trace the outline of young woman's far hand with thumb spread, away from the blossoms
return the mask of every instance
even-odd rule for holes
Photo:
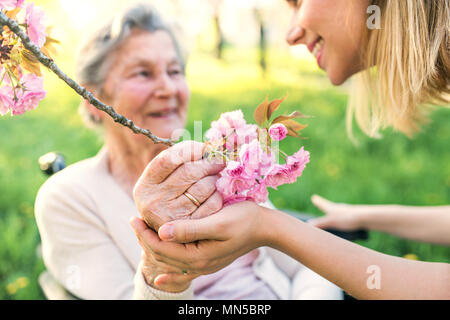
[[[325,213],[325,216],[312,219],[308,223],[321,229],[337,229],[352,231],[361,229],[361,216],[370,210],[371,206],[351,205],[346,203],[335,203],[313,195],[312,203]]]

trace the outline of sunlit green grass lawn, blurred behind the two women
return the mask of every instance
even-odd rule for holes
[[[345,131],[347,95],[332,87],[310,60],[294,61],[271,52],[265,78],[252,51],[230,50],[225,62],[206,53],[191,57],[188,80],[192,89],[188,129],[203,121],[203,130],[221,112],[243,110],[248,121],[269,94],[288,94],[280,112],[299,109],[306,119],[307,140],[283,141],[292,153],[304,145],[311,163],[300,182],[271,191],[280,208],[320,214],[310,202],[317,193],[347,203],[443,205],[450,203],[450,112],[433,114],[432,123],[414,140],[387,131],[381,140],[356,131],[360,146]],[[42,299],[37,277],[44,269],[36,247],[39,234],[33,216],[34,198],[45,177],[37,159],[59,151],[67,162],[93,156],[101,146],[77,114],[79,99],[54,76],[46,78],[48,97],[24,116],[0,118],[0,299]],[[450,262],[450,248],[402,240],[371,232],[360,244],[388,254],[413,253],[423,261]]]

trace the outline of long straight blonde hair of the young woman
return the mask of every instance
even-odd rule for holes
[[[408,136],[427,122],[432,105],[449,104],[450,2],[372,0],[381,29],[365,28],[362,61],[347,109],[363,132],[379,137],[392,126]]]

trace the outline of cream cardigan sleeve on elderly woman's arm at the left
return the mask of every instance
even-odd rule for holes
[[[37,195],[36,222],[44,263],[70,293],[94,300],[192,296],[192,289],[171,294],[148,286],[108,234],[92,196],[82,186],[52,178]]]

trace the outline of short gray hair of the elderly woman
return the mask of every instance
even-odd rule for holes
[[[109,57],[127,39],[133,29],[167,32],[173,41],[184,73],[185,58],[172,28],[162,20],[151,5],[138,4],[126,9],[98,29],[80,47],[76,59],[75,76],[77,81],[84,86],[93,86],[101,90],[107,72],[113,63]],[[95,119],[83,105],[80,106],[79,111],[88,126],[99,127],[100,121]]]

